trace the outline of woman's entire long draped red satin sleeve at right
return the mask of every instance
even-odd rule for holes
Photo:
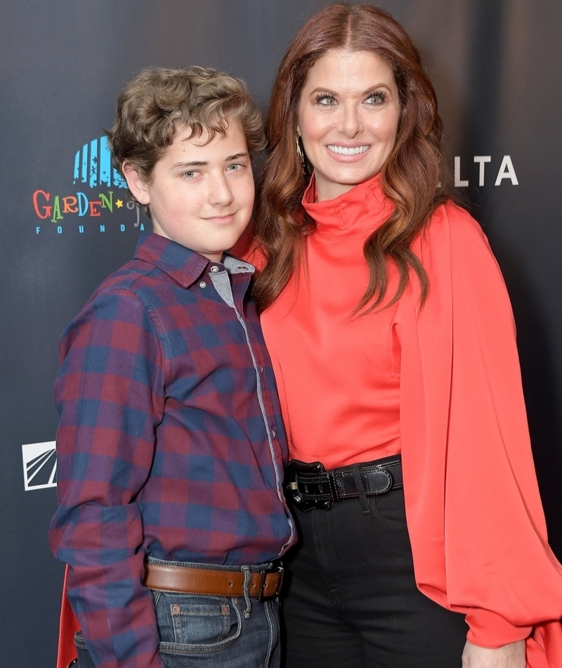
[[[440,207],[414,243],[429,274],[400,300],[400,430],[417,584],[466,613],[469,640],[528,638],[528,666],[562,666],[562,567],[532,461],[515,326],[480,226]],[[529,637],[530,636],[530,637]]]

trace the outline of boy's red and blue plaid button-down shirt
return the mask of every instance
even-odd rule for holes
[[[146,555],[256,564],[294,541],[252,271],[145,234],[61,338],[51,547],[98,666],[162,666]]]

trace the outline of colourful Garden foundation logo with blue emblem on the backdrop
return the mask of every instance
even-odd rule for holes
[[[126,198],[126,183],[112,165],[107,137],[93,139],[77,150],[72,186],[64,193],[48,188],[34,191],[36,234],[104,233],[114,226],[120,232],[145,229],[139,207]]]

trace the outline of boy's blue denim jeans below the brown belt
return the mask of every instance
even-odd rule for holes
[[[171,562],[159,562],[171,563]],[[217,567],[240,571],[240,567]],[[261,570],[250,566],[250,570]],[[279,668],[277,600],[152,591],[166,668]],[[81,634],[78,667],[95,668]]]

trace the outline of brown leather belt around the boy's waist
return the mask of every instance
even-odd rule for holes
[[[249,596],[259,601],[275,598],[281,591],[283,569],[249,573]],[[145,564],[145,586],[149,589],[200,594],[201,596],[244,596],[244,571]]]

